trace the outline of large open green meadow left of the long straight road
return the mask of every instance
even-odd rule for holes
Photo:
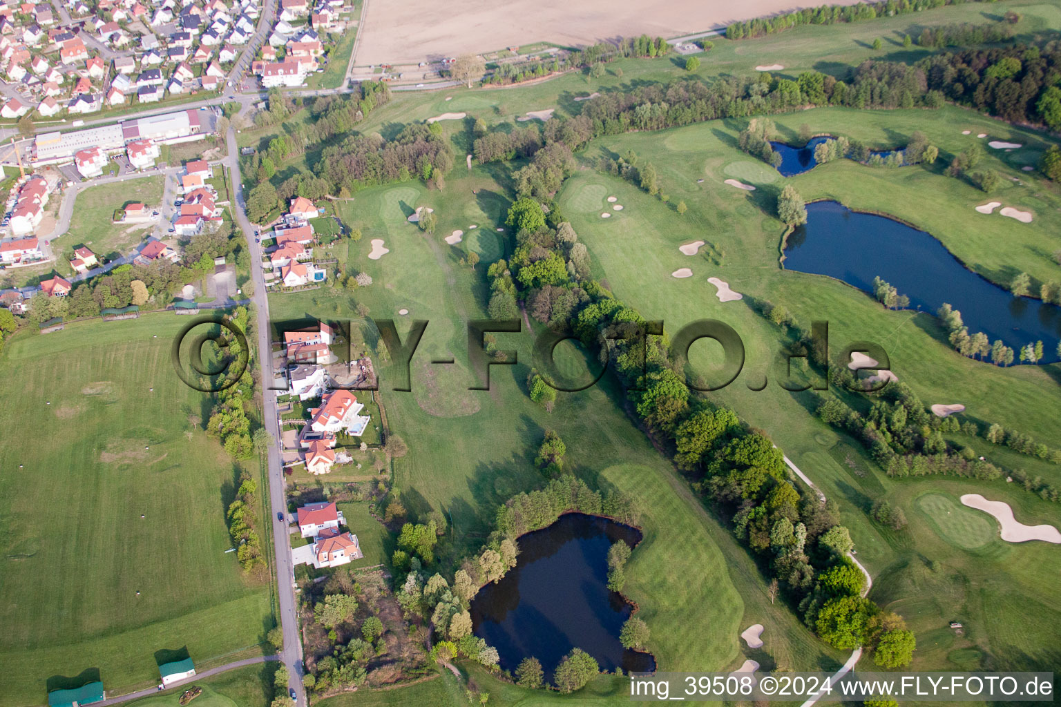
[[[202,430],[209,399],[173,370],[181,319],[74,323],[7,342],[5,704],[38,704],[47,678],[87,668],[109,692],[153,684],[160,649],[187,646],[201,666],[261,652],[271,585],[226,553],[240,470]]]

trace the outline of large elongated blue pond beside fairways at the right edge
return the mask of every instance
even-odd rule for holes
[[[806,205],[807,223],[785,247],[785,269],[828,275],[868,293],[880,276],[910,307],[935,314],[943,302],[961,312],[970,334],[1002,339],[1015,353],[1038,340],[1057,360],[1061,307],[1008,290],[966,268],[939,241],[898,220],[851,211],[836,201]]]

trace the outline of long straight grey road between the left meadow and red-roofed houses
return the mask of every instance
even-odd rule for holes
[[[236,130],[228,128],[226,136],[228,157],[224,163],[231,171],[232,213],[236,223],[243,230],[250,249],[250,272],[255,283],[255,294],[251,301],[257,312],[256,325],[258,330],[258,361],[261,366],[262,382],[273,381],[273,355],[269,344],[268,290],[265,289],[265,277],[261,268],[261,245],[255,243],[256,229],[247,218],[246,201],[243,197],[243,180],[240,177],[240,151],[236,145]],[[264,385],[262,386],[265,387]],[[265,429],[273,437],[274,443],[268,446],[268,493],[269,514],[273,524],[273,549],[276,553],[276,577],[279,585],[277,603],[280,608],[280,625],[283,629],[283,651],[281,658],[288,666],[291,675],[291,687],[295,689],[299,707],[306,707],[306,689],[302,687],[302,641],[298,630],[298,611],[295,601],[295,567],[291,559],[291,541],[286,520],[277,518],[277,513],[288,514],[288,499],[284,492],[283,467],[280,463],[280,426],[276,411],[276,391],[262,390]]]

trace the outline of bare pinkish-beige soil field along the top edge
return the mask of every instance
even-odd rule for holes
[[[621,36],[676,37],[734,20],[796,10],[790,0],[742,3],[648,0],[367,0],[356,66],[416,63],[533,41],[591,45]],[[840,4],[853,4],[839,0]],[[534,21],[526,21],[534,18]]]

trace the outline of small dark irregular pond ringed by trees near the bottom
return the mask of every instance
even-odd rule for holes
[[[503,670],[534,656],[551,679],[573,648],[596,658],[601,670],[656,669],[651,655],[619,642],[632,606],[607,585],[608,548],[616,541],[632,548],[641,532],[581,513],[520,537],[516,567],[471,602],[474,633],[498,649]]]

